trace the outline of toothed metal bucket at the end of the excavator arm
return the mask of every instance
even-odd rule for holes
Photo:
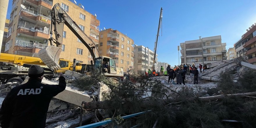
[[[58,64],[60,54],[61,48],[56,46],[47,46],[38,52],[40,59],[52,70],[61,68]]]

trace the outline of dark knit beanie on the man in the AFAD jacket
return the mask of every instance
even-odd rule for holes
[[[32,65],[31,67],[29,67],[29,77],[30,78],[38,78],[38,77],[42,77],[42,75],[44,75],[45,70],[40,67],[39,65]]]

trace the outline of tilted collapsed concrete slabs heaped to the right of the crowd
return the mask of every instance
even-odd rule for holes
[[[232,71],[234,73],[242,73],[249,68],[256,70],[256,66],[248,63],[248,61],[243,57],[221,62],[216,62],[214,64],[212,63],[213,65],[218,65],[199,74],[199,78],[210,81],[218,81],[218,77],[221,72]]]

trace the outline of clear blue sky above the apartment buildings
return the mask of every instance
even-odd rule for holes
[[[74,1],[74,0],[71,0]],[[256,22],[255,0],[76,0],[85,10],[97,14],[100,28],[112,28],[134,40],[134,44],[154,50],[160,8],[163,8],[158,60],[178,64],[177,46],[199,36],[221,35],[226,49]],[[9,0],[7,19],[12,0]]]

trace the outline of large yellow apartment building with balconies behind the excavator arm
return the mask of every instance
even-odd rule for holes
[[[5,53],[38,57],[38,51],[49,44],[51,8],[60,3],[61,8],[97,44],[99,20],[69,0],[13,0]],[[22,6],[23,7],[22,7]],[[88,49],[64,25],[62,52],[60,58],[88,63]]]

